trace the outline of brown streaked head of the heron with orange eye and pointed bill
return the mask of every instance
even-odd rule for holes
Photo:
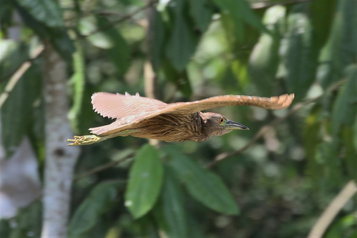
[[[203,119],[203,130],[205,130],[209,136],[221,136],[237,129],[249,130],[248,127],[227,120],[224,116],[218,113],[206,112],[202,113],[201,117]]]

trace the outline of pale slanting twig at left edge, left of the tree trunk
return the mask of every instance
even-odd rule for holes
[[[12,75],[10,78],[9,82],[7,82],[4,91],[0,95],[0,108],[2,105],[4,105],[4,102],[6,101],[7,97],[9,97],[10,92],[14,89],[16,83],[19,81],[19,79],[22,77],[22,75],[25,74],[25,72],[30,68],[32,64],[32,60],[36,59],[39,57],[41,52],[44,50],[44,46],[40,45],[38,46],[33,52],[30,57],[30,59],[26,60],[22,65],[19,67],[19,69],[16,70],[16,72]]]

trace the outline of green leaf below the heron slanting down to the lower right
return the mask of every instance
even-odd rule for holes
[[[170,155],[170,166],[185,183],[192,197],[217,212],[227,215],[239,213],[236,202],[220,177],[180,152],[171,150],[167,153]]]

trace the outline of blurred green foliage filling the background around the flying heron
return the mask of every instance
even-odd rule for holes
[[[356,181],[357,2],[273,3],[160,0],[149,13],[138,0],[2,1],[0,92],[37,45],[52,42],[67,62],[68,117],[78,134],[111,121],[92,111],[92,93],[144,95],[148,60],[165,102],[225,94],[314,99],[211,171],[205,165],[217,155],[242,148],[294,105],[212,110],[251,130],[200,143],[154,148],[129,136],[82,147],[76,174],[138,152],[74,181],[69,236],[303,237]],[[7,157],[28,135],[40,164],[45,159],[44,70],[41,57],[33,60],[1,107]],[[39,236],[40,205],[2,219],[1,237]],[[352,199],[326,237],[355,237],[356,216]]]

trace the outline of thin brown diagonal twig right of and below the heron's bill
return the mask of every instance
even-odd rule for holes
[[[337,90],[345,81],[346,80],[340,80],[340,81],[334,83],[329,88],[327,88],[326,92],[331,92],[331,91]],[[268,132],[272,126],[275,126],[278,123],[284,121],[286,118],[290,117],[291,115],[294,115],[295,113],[300,111],[301,108],[309,105],[310,103],[316,102],[322,96],[323,96],[323,94],[320,96],[317,96],[315,98],[312,98],[310,100],[306,100],[304,102],[296,104],[295,107],[290,112],[288,112],[285,116],[278,117],[275,120],[268,123],[267,125],[260,128],[260,130],[255,134],[255,136],[245,146],[243,146],[242,148],[240,148],[237,151],[233,151],[233,152],[229,152],[229,153],[221,153],[221,154],[217,155],[211,163],[206,165],[206,167],[212,168],[219,161],[222,161],[223,159],[226,159],[226,158],[234,156],[234,155],[238,155],[238,154],[242,153],[243,151],[247,150],[247,148],[254,145],[261,137],[263,137],[263,135],[265,135],[265,133]]]

